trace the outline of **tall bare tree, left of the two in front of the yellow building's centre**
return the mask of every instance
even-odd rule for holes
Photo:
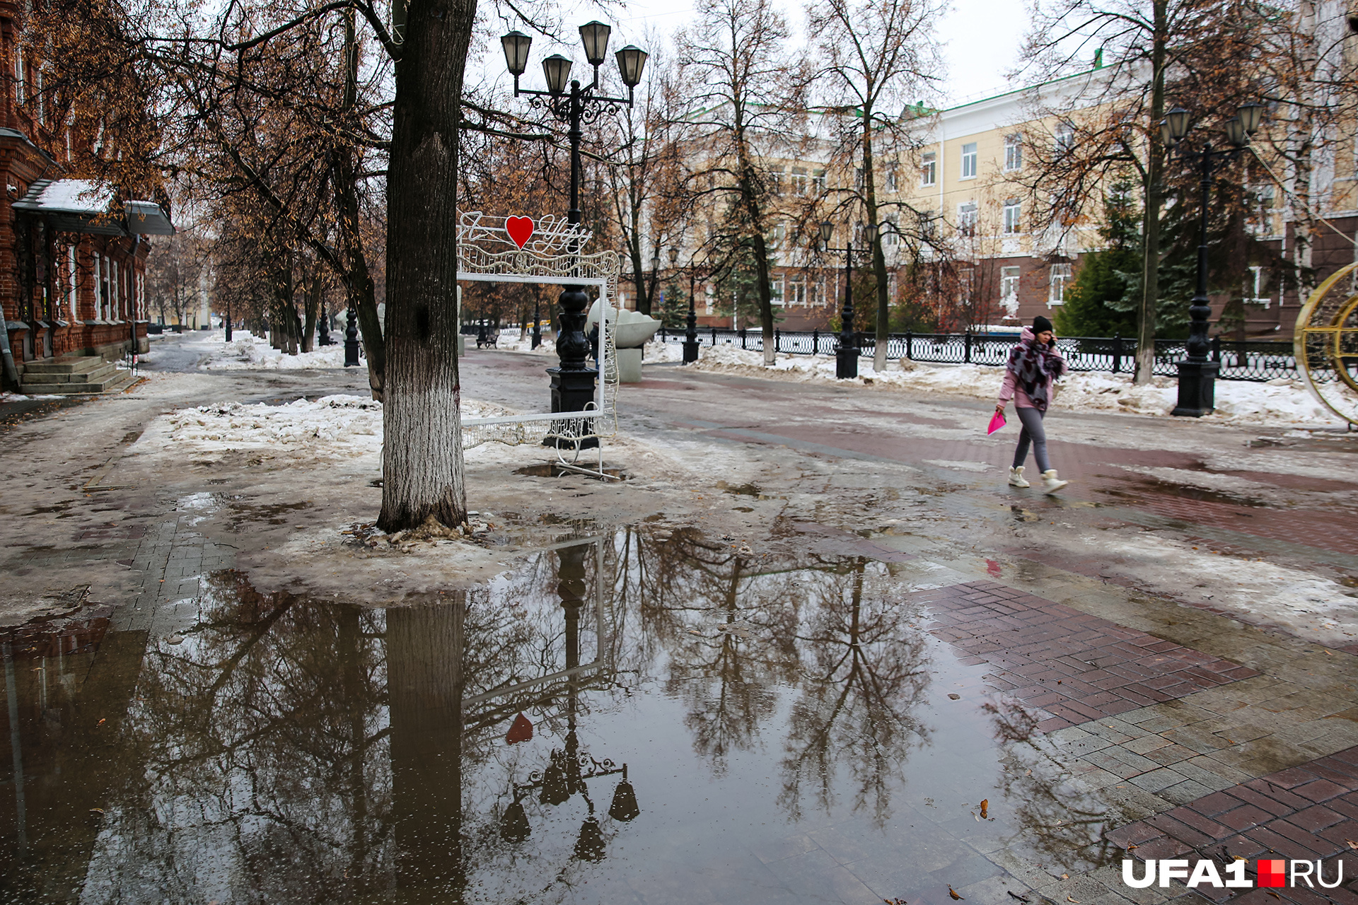
[[[687,194],[724,217],[706,237],[721,256],[752,258],[765,362],[774,361],[767,160],[801,144],[807,73],[789,53],[788,23],[770,0],[701,0],[679,34]]]

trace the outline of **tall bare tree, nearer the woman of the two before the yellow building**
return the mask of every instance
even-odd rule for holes
[[[839,125],[835,163],[847,172],[857,170],[853,189],[838,198],[838,210],[850,223],[864,217],[876,277],[877,343],[873,366],[887,366],[889,304],[887,258],[877,237],[883,208],[907,208],[902,202],[879,199],[877,153],[910,148],[907,123],[889,110],[900,110],[910,95],[918,96],[937,77],[940,60],[932,38],[932,23],[941,11],[937,0],[830,0],[811,8],[809,30],[824,57],[822,81],[830,95],[830,110]],[[915,123],[909,123],[915,125]],[[918,212],[892,217],[892,227],[909,229]]]

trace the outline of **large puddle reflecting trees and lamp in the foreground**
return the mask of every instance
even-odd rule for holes
[[[642,528],[435,605],[219,573],[175,635],[11,634],[4,901],[951,905],[1100,860],[899,569]]]

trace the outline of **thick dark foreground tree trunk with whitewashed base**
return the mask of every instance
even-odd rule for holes
[[[397,62],[378,517],[378,526],[388,532],[414,528],[429,517],[459,525],[467,514],[452,224],[458,221],[458,110],[475,15],[475,0],[413,0]]]

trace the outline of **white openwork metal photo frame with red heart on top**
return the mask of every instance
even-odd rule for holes
[[[462,421],[463,449],[483,442],[508,445],[540,444],[547,438],[583,441],[585,438],[614,437],[618,433],[618,364],[612,300],[618,294],[622,261],[614,251],[587,254],[581,251],[593,236],[589,229],[572,225],[554,216],[532,223],[532,235],[520,246],[511,239],[507,228],[509,217],[490,217],[479,210],[464,212],[458,218],[458,280],[474,282],[536,282],[576,286],[598,286],[600,312],[599,331],[599,385],[593,408],[579,415],[562,412],[509,415],[504,418],[464,418]],[[579,455],[580,444],[558,444],[557,456],[562,467],[572,471],[603,474],[603,448],[599,452],[599,471],[568,463],[562,453]]]

